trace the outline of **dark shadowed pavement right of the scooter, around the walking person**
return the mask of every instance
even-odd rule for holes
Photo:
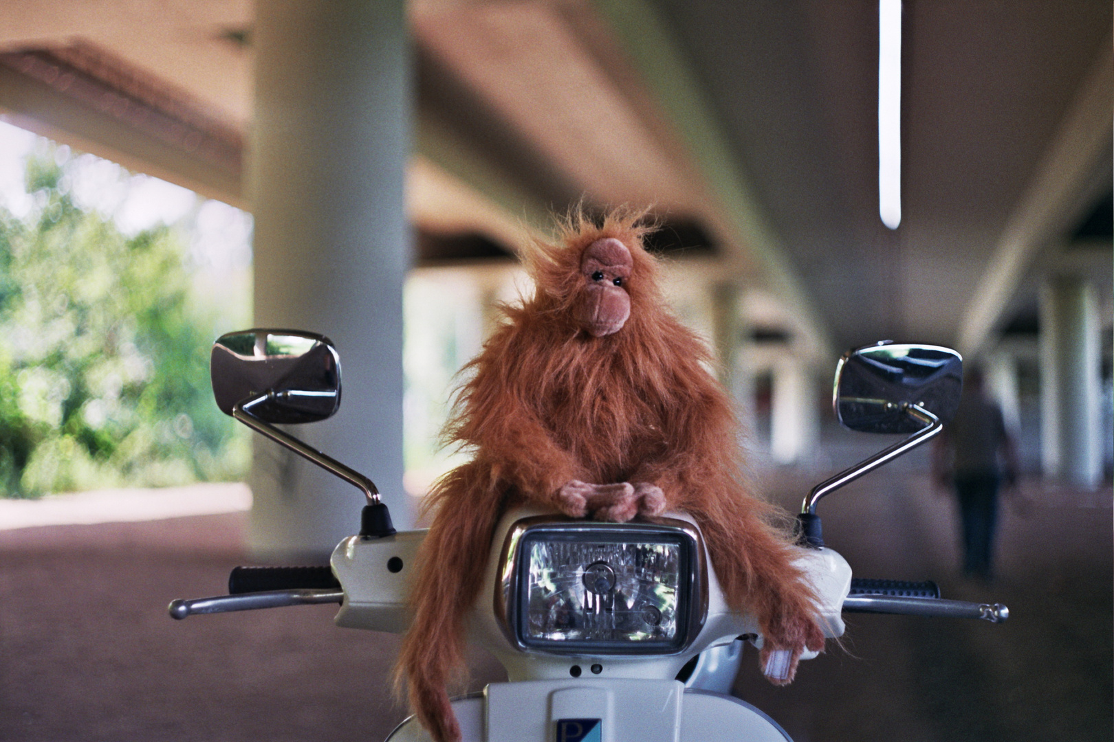
[[[1025,493],[1027,507],[1005,509],[990,585],[957,576],[952,504],[924,477],[879,472],[822,501],[828,544],[859,576],[931,578],[944,597],[1005,603],[1010,619],[857,614],[843,649],[793,685],[773,689],[744,666],[736,694],[797,742],[1114,738],[1110,489]]]

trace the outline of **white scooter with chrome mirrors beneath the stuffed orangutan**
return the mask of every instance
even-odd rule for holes
[[[423,531],[397,533],[365,476],[274,427],[324,419],[340,405],[340,358],[328,338],[252,329],[213,348],[221,408],[360,487],[360,533],[330,567],[236,567],[229,595],[170,603],[199,613],[339,603],[335,623],[404,632],[408,592]],[[1005,621],[1004,605],[939,598],[932,583],[853,580],[823,545],[821,497],[940,432],[958,404],[959,354],[880,343],[849,352],[836,372],[836,412],[849,428],[911,437],[817,485],[804,499],[799,564],[814,587],[825,635],[842,613],[902,613]],[[508,682],[453,701],[465,742],[784,742],[768,715],[729,695],[744,642],[761,647],[750,615],[727,609],[692,518],[576,521],[532,509],[507,513],[496,531],[470,640],[507,669]],[[814,656],[814,655],[813,655]],[[809,659],[805,655],[804,659]],[[408,719],[390,742],[429,740]]]

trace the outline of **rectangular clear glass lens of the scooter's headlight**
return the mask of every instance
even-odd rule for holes
[[[692,558],[691,541],[676,532],[527,532],[518,639],[561,652],[678,650],[687,640]]]

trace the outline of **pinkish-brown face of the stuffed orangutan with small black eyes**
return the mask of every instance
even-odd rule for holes
[[[593,337],[619,332],[631,316],[626,283],[633,263],[631,250],[614,237],[597,239],[585,248],[580,275],[588,286],[576,318]]]

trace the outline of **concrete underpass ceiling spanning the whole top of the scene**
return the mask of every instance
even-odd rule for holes
[[[698,83],[691,111],[647,81],[638,55],[661,42],[636,48],[616,26],[624,8],[656,16],[680,50]],[[0,9],[0,51],[82,39],[246,130],[252,13],[242,0],[27,0]],[[873,1],[414,0],[411,19],[419,226],[459,224],[506,244],[517,222],[582,195],[595,206],[653,201],[716,243],[721,278],[781,295],[791,334],[843,347],[957,342],[1062,120],[1096,65],[1110,63],[1112,7],[906,2],[896,231],[877,214]],[[688,112],[714,119],[761,228],[740,228],[740,201],[710,185],[722,174],[698,156],[707,142],[686,138]],[[1075,212],[1059,215],[1058,233],[995,307],[996,327],[1032,305],[1034,270],[1057,265],[1073,219],[1110,198],[1110,157],[1071,185],[1063,210]],[[1108,238],[1088,249],[1110,263]],[[1097,278],[1110,306],[1108,273]]]

